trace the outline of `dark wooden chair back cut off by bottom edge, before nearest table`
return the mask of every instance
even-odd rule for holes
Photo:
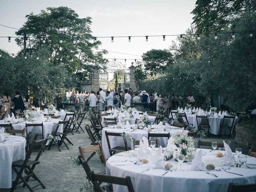
[[[121,177],[115,177],[115,176],[95,174],[93,171],[90,171],[89,175],[92,180],[92,184],[94,186],[95,192],[112,192],[113,191],[113,187],[111,185],[101,186],[100,184],[102,182],[127,186],[128,192],[134,192],[134,188],[132,186],[132,180],[130,176],[121,178]]]

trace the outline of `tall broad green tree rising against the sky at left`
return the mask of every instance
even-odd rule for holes
[[[93,42],[90,17],[78,18],[78,14],[68,7],[48,7],[40,14],[26,15],[27,21],[18,36],[27,36],[28,44],[23,54],[32,56],[44,47],[49,50],[50,61],[64,66],[69,72],[86,76],[92,72],[92,65],[104,66],[103,54],[106,50],[97,51],[100,41]],[[80,42],[78,42],[79,40]],[[62,41],[62,42],[60,42]],[[23,46],[24,38],[16,38]],[[45,43],[44,43],[45,42]]]

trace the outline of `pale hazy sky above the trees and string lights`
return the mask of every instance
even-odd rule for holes
[[[80,18],[92,17],[93,36],[150,36],[182,34],[192,23],[190,14],[196,0],[9,0],[1,1],[0,24],[14,28],[22,27],[26,14],[38,14],[46,7],[67,6],[73,9]],[[0,26],[0,36],[15,36],[16,30]],[[113,52],[142,55],[151,49],[168,49],[176,36],[162,37],[110,38],[99,39],[101,49]],[[0,38],[0,48],[9,53],[17,53],[20,48],[14,39]],[[141,59],[109,52],[104,58]],[[124,62],[124,60],[120,60]],[[127,61],[127,66],[134,62]]]

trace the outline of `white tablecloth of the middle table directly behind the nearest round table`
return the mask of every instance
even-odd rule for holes
[[[182,130],[178,127],[173,127],[171,126],[172,128],[177,128],[176,130],[171,130],[170,131],[170,134],[176,134],[177,132],[181,132]],[[102,148],[103,148],[103,151],[104,151],[104,154],[106,156],[106,158],[108,159],[110,157],[110,153],[109,153],[109,149],[108,149],[108,143],[107,143],[107,140],[106,140],[106,134],[105,134],[105,131],[108,131],[108,132],[114,132],[114,133],[120,133],[122,134],[123,132],[125,132],[125,134],[127,136],[130,136],[132,135],[132,137],[135,139],[135,140],[142,140],[143,136],[148,138],[148,131],[144,131],[144,130],[137,130],[137,131],[128,131],[128,130],[125,130],[125,129],[114,129],[113,127],[108,127],[108,128],[103,128],[102,129]],[[152,133],[156,132],[156,130],[152,130]],[[157,133],[168,133],[167,131],[163,131],[163,132],[157,132]],[[115,136],[109,136],[109,142],[110,142],[110,146],[113,148],[115,146],[124,146],[124,139],[122,137],[115,137]],[[153,138],[154,139],[154,138]],[[167,138],[158,138],[158,141],[159,141],[159,144],[162,146],[162,147],[166,147],[167,146]],[[128,147],[131,146],[131,143],[127,140],[127,143],[128,143]]]

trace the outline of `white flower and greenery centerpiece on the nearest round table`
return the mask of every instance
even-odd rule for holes
[[[186,156],[194,148],[194,138],[186,133],[175,134],[172,136],[174,144],[180,148],[181,153]]]

